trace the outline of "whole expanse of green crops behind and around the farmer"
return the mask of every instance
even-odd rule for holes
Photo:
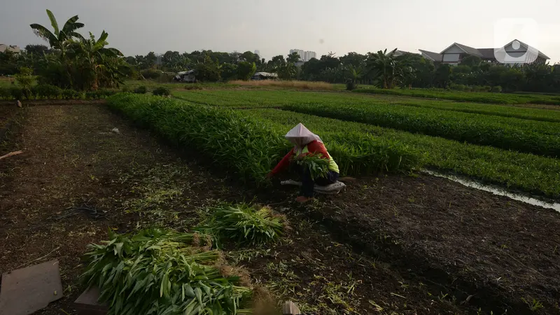
[[[394,103],[399,99],[388,102],[346,92],[196,90],[176,91],[174,95],[181,100],[121,94],[109,102],[162,137],[202,147],[208,158],[223,162],[218,162],[223,168],[258,184],[265,183],[264,174],[290,148],[283,134],[293,125],[304,123],[321,135],[343,174],[407,172],[428,167],[508,188],[560,196],[560,162],[543,156],[547,152],[542,150],[546,141],[554,147],[554,139],[559,137],[558,123],[433,109],[428,104],[401,105]],[[503,111],[520,110],[501,107]],[[528,116],[556,113],[542,109],[519,112]],[[389,126],[375,123],[373,118],[378,116]],[[407,120],[403,123],[404,118]],[[430,124],[435,127],[429,129]],[[419,127],[423,125],[428,127]],[[411,126],[416,127],[414,133],[407,132]],[[436,128],[441,134],[434,132]],[[487,139],[493,146],[455,141],[455,134]],[[517,147],[531,143],[531,150],[541,155],[500,148],[507,146],[507,141]],[[224,150],[238,158],[221,161],[216,152]]]

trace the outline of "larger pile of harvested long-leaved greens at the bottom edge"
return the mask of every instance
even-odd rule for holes
[[[244,314],[239,305],[251,289],[235,286],[213,264],[217,251],[189,246],[197,235],[143,230],[116,235],[103,245],[89,245],[89,265],[82,279],[97,285],[99,302],[110,315]]]

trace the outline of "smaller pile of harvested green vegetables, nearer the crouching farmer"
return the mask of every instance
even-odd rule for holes
[[[235,239],[241,244],[264,244],[275,241],[285,229],[286,218],[268,207],[248,204],[223,204],[200,230],[216,235],[216,239]]]

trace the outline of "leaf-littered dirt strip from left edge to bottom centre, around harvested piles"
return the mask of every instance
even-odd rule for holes
[[[0,163],[0,272],[53,258],[60,261],[65,297],[38,314],[74,314],[83,286],[85,246],[152,225],[188,230],[206,207],[242,202],[252,193],[230,186],[147,132],[130,127],[102,105],[30,107],[10,149],[25,151]],[[113,132],[118,128],[118,132]],[[0,152],[3,153],[3,152]],[[288,193],[279,194],[278,198]],[[332,239],[299,209],[279,244],[230,248],[253,283],[318,314],[465,314],[438,286],[402,273]]]

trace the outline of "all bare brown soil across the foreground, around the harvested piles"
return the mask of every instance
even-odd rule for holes
[[[79,257],[109,228],[186,230],[218,200],[255,196],[287,214],[293,230],[280,244],[232,249],[228,258],[307,310],[533,314],[524,297],[544,304],[538,314],[559,313],[553,211],[423,175],[358,179],[299,207],[292,188],[247,190],[103,106],[27,111],[13,141],[25,153],[0,163],[0,272],[60,260],[66,297],[38,314],[72,314],[83,289]],[[103,217],[69,208],[83,204]]]

